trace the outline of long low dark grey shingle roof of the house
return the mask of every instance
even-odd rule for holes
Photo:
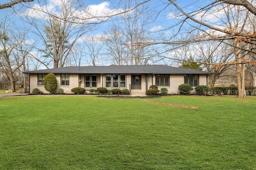
[[[69,66],[62,68],[50,68],[23,72],[26,74],[48,74],[48,73],[79,73],[79,74],[215,74],[200,70],[189,70],[165,65],[110,65],[110,66]]]

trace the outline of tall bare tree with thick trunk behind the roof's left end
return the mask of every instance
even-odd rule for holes
[[[47,4],[42,9],[36,8],[39,16],[28,13],[27,22],[32,25],[31,30],[40,38],[45,49],[37,47],[44,57],[53,61],[54,68],[67,65],[69,54],[76,43],[85,33],[95,27],[88,22],[80,23],[77,16],[82,2],[77,0],[60,0],[58,6],[52,8]]]

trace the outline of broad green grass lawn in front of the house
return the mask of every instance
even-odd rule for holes
[[[255,103],[254,96],[0,98],[0,169],[254,170]]]

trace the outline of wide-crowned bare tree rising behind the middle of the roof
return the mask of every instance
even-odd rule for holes
[[[125,7],[125,11],[128,11],[127,8]],[[141,5],[113,19],[112,27],[106,31],[105,41],[109,55],[113,56],[113,63],[148,63],[152,57],[152,49],[143,44],[154,41],[149,31],[149,23],[153,22],[152,14],[148,6]]]

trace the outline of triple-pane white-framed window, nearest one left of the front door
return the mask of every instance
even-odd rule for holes
[[[126,88],[126,75],[106,74],[106,88]]]

